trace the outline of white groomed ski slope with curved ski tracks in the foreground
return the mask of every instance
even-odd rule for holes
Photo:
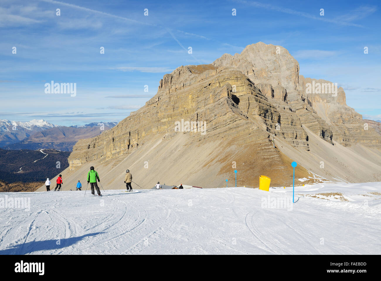
[[[0,254],[379,254],[381,182],[292,189],[0,193]]]

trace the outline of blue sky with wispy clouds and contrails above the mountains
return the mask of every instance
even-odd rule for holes
[[[304,0],[2,0],[0,118],[44,119],[69,126],[120,121],[156,94],[165,73],[181,65],[211,63],[224,53],[241,52],[262,41],[287,48],[305,77],[337,82],[346,92],[347,105],[364,119],[378,120],[379,5]],[[324,16],[319,15],[321,8]],[[76,83],[77,95],[45,94],[45,83],[52,80]]]

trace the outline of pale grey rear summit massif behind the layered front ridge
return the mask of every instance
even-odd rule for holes
[[[346,105],[343,88],[299,76],[298,61],[281,46],[262,42],[248,45],[241,54],[224,54],[213,65],[240,70],[266,97],[285,101],[307,128],[330,143],[360,142],[379,147],[374,130],[361,130],[362,116]]]

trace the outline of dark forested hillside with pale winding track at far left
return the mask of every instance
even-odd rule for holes
[[[45,181],[69,166],[69,155],[55,149],[0,149],[0,179],[8,183]]]

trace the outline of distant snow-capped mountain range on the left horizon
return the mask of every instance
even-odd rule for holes
[[[59,126],[45,120],[18,122],[0,120],[0,147],[6,150],[57,149],[72,151],[79,139],[95,137],[116,122],[93,122],[82,126]]]

